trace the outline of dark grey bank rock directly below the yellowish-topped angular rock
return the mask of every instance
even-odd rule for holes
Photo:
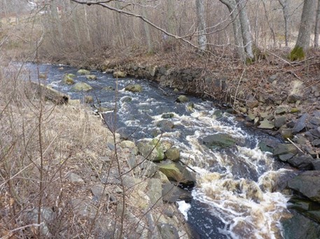
[[[167,182],[162,185],[162,200],[165,203],[175,203],[176,201],[190,201],[192,198],[190,191],[183,190],[174,184]]]

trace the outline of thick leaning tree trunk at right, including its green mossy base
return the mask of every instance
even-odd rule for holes
[[[310,36],[312,34],[312,25],[316,9],[316,0],[305,0],[302,8],[299,34],[295,48],[291,51],[290,59],[304,59],[305,52],[309,49]]]

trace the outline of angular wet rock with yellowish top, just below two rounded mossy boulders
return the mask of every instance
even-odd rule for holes
[[[193,186],[195,184],[193,175],[191,175],[186,167],[181,166],[181,164],[166,160],[157,165],[159,166],[159,171],[164,173],[169,180],[174,180],[184,185]]]

